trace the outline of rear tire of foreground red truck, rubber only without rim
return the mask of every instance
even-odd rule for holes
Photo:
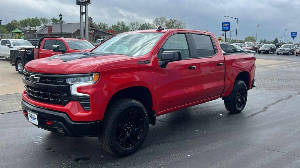
[[[244,89],[245,89],[245,100],[244,100],[243,106],[239,108],[236,103],[236,99],[237,99],[238,90],[241,87],[244,87]],[[247,95],[248,95],[247,94],[247,86],[244,83],[244,81],[236,80],[230,95],[228,97],[226,97],[226,99],[224,100],[226,110],[231,113],[240,113],[241,111],[243,111],[243,109],[245,108],[246,103],[247,103]]]

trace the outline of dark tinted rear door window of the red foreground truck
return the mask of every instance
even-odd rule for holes
[[[195,57],[209,57],[216,54],[210,36],[202,34],[192,34],[192,36],[197,49],[197,55]]]

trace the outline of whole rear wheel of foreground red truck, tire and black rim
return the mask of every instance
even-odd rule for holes
[[[243,111],[247,103],[247,95],[247,86],[244,81],[236,80],[230,95],[224,100],[226,110],[232,113]]]

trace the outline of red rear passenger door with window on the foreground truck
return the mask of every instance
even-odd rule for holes
[[[221,95],[225,86],[225,61],[222,52],[217,51],[217,41],[209,33],[190,32],[189,35],[197,60],[198,100]]]

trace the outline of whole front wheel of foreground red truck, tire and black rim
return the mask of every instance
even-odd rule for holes
[[[108,107],[98,139],[107,152],[127,156],[142,146],[148,129],[149,117],[143,104],[133,99],[118,99]]]

